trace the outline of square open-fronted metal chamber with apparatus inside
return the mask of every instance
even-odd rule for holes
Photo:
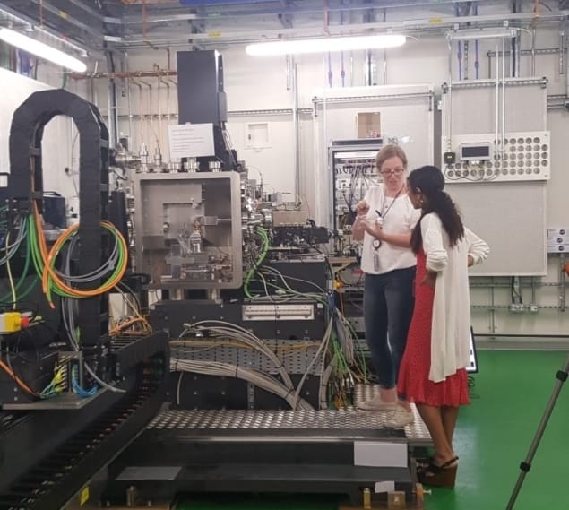
[[[136,174],[136,266],[153,289],[237,289],[243,282],[237,172]]]

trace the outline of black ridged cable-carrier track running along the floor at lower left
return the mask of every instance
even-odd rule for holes
[[[0,466],[0,507],[59,510],[156,415],[168,376],[166,333],[114,341],[111,349],[127,393],[105,392],[66,411],[73,419],[65,425],[62,411],[0,415],[0,452],[10,459]]]

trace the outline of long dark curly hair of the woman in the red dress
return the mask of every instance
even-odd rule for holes
[[[417,254],[421,246],[421,220],[429,212],[436,212],[443,223],[444,230],[448,234],[451,246],[456,245],[464,236],[464,225],[462,224],[461,214],[453,203],[453,199],[443,191],[443,172],[436,167],[427,165],[413,170],[407,182],[413,193],[420,191],[427,199],[422,206],[422,214],[417,222],[417,226],[411,233],[411,249],[413,253]]]

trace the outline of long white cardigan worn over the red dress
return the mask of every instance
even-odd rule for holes
[[[464,237],[450,246],[440,218],[430,212],[421,220],[423,250],[427,270],[436,275],[431,331],[429,379],[444,381],[470,363],[470,291],[468,255],[482,263],[489,247],[474,232],[464,229]]]

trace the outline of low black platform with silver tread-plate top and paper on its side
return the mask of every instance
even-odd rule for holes
[[[377,393],[358,386],[356,406]],[[346,494],[389,483],[414,501],[407,462],[431,444],[415,410],[405,429],[385,428],[389,413],[356,408],[320,411],[161,411],[108,467],[103,500],[123,503],[134,487],[144,500],[181,492],[312,492]]]

